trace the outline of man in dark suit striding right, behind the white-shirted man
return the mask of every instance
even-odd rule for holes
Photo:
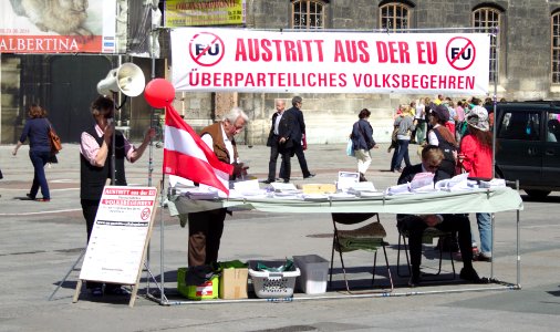
[[[303,121],[301,105],[302,98],[300,96],[294,96],[292,98],[292,107],[286,111],[286,113],[291,114],[291,117],[293,118],[293,131],[290,137],[293,139],[292,156],[295,155],[298,157],[303,178],[311,178],[315,175],[309,172],[308,162],[305,160],[305,155],[303,154],[303,151],[307,148],[307,143],[304,145],[301,143],[302,141],[305,141],[305,122]],[[284,173],[283,168],[280,167],[280,177],[286,181],[286,178],[289,178],[290,174]]]

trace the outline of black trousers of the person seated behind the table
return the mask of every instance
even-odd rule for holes
[[[470,239],[470,224],[466,215],[443,215],[444,221],[434,226],[442,231],[457,231],[459,250],[463,257],[463,266],[473,267],[473,249]],[[413,270],[422,263],[422,236],[428,228],[426,222],[414,215],[400,217],[397,228],[401,232],[408,231],[408,250],[411,252],[411,266]]]

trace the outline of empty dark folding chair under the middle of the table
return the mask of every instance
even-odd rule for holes
[[[338,225],[356,225],[366,221],[370,218],[375,217],[375,221],[365,224],[355,229],[339,229]],[[391,283],[391,291],[393,291],[393,278],[391,276],[391,269],[388,266],[387,251],[385,250],[385,241],[387,234],[380,222],[378,214],[332,214],[332,225],[334,228],[332,238],[332,250],[331,250],[331,270],[329,287],[332,284],[332,272],[334,266],[334,251],[340,255],[340,261],[342,264],[342,272],[344,274],[344,282],[346,284],[346,291],[350,291],[349,280],[346,276],[346,268],[344,266],[343,252],[354,250],[366,250],[373,251],[373,270],[372,270],[372,286],[375,282],[375,268],[377,262],[377,249],[383,248],[385,256],[385,264],[387,267],[387,278]]]

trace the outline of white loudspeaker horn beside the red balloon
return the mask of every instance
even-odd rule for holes
[[[137,96],[144,91],[146,79],[142,69],[132,62],[126,62],[111,70],[107,76],[97,83],[97,92],[102,95],[121,92],[127,96]]]

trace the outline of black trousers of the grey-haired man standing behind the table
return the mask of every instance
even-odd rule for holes
[[[188,266],[218,261],[226,209],[188,214]]]

